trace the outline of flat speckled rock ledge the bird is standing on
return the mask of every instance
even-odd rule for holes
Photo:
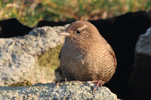
[[[2,100],[119,100],[107,87],[98,87],[92,93],[92,87],[87,83],[68,82],[56,84],[37,84],[30,87],[0,87]]]

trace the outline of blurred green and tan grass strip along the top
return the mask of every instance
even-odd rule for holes
[[[96,20],[151,10],[151,0],[1,0],[0,20],[17,18],[28,26],[40,20]]]

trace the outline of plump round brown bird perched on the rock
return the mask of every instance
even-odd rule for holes
[[[117,65],[115,53],[93,24],[76,21],[60,35],[66,36],[59,58],[67,80],[92,81],[102,86],[112,78]]]

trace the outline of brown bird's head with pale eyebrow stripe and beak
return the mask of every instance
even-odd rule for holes
[[[71,23],[65,32],[60,33],[61,36],[66,36],[66,39],[72,41],[85,41],[92,39],[94,35],[100,35],[97,28],[87,21],[76,21]]]

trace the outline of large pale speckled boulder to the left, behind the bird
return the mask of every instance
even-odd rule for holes
[[[0,85],[12,86],[23,81],[31,84],[54,81],[55,70],[52,66],[42,65],[45,60],[53,59],[42,59],[41,62],[39,59],[64,43],[64,37],[58,34],[66,27],[41,27],[25,36],[0,38]]]

